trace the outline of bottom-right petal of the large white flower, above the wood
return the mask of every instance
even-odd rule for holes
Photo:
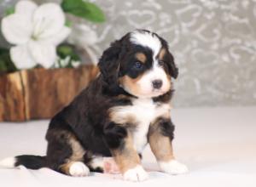
[[[37,64],[42,65],[44,68],[54,65],[57,54],[53,44],[31,41],[29,42],[29,49],[32,58],[35,59]]]

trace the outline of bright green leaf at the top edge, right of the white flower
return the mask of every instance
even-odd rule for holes
[[[86,20],[97,23],[105,21],[102,9],[94,3],[84,2],[83,0],[63,0],[61,8],[68,14],[73,14]]]

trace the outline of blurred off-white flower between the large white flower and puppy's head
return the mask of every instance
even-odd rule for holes
[[[87,54],[90,55],[92,62],[97,63],[96,54],[90,48],[94,47],[96,42],[98,42],[96,31],[93,31],[89,26],[84,24],[77,24],[73,26],[72,32],[67,40],[79,48],[84,48]]]

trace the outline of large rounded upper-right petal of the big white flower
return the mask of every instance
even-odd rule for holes
[[[33,36],[38,39],[54,37],[65,24],[65,15],[55,3],[45,3],[33,14]]]

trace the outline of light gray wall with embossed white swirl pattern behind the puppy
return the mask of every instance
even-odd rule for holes
[[[166,38],[180,70],[174,105],[256,105],[255,0],[93,2],[108,18],[102,25],[90,24],[99,36],[98,55],[134,28]]]

